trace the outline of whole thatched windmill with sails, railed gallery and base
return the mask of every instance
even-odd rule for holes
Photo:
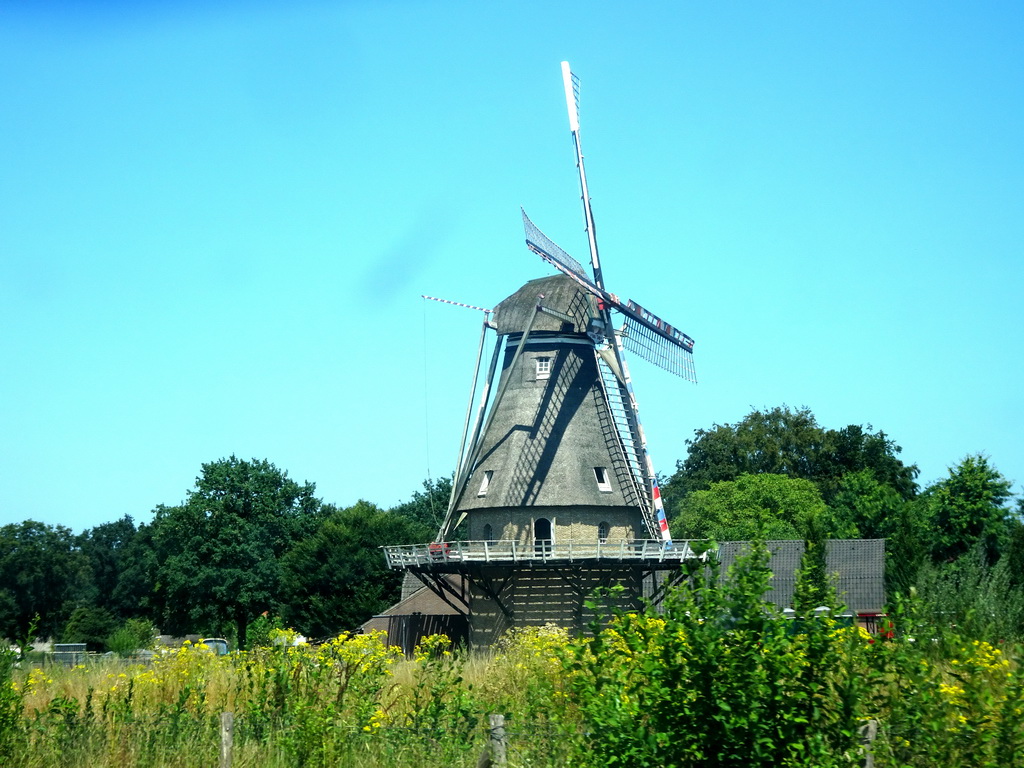
[[[580,144],[579,81],[562,62],[591,273],[526,216],[527,248],[557,274],[484,310],[474,389],[447,513],[434,542],[387,547],[468,616],[485,645],[511,626],[582,631],[597,587],[620,607],[656,599],[657,571],[693,554],[673,543],[626,351],[694,381],[693,340],[604,284]],[[493,315],[493,316],[492,316]],[[488,331],[497,341],[477,396]],[[475,404],[475,408],[474,408]],[[474,416],[475,411],[475,416]]]

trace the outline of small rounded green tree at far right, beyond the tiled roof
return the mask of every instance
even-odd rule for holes
[[[932,558],[951,561],[981,547],[994,563],[1009,542],[1012,513],[1010,481],[984,456],[969,456],[930,489]]]

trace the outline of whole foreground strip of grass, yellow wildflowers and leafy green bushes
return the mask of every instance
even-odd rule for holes
[[[592,637],[510,634],[468,654],[427,638],[412,658],[379,635],[152,664],[0,662],[0,764],[475,766],[507,718],[510,766],[851,766],[878,724],[877,766],[1024,765],[1021,649],[936,628],[912,603],[893,637],[823,616],[779,618],[758,562],[680,592],[663,613]]]

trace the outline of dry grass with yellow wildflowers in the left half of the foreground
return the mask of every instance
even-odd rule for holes
[[[147,665],[14,668],[0,762],[208,767],[229,712],[233,766],[473,766],[487,716],[527,712],[530,686],[554,677],[553,648],[565,642],[543,630],[467,655],[431,637],[406,658],[379,635],[355,635],[227,656],[185,645]],[[542,726],[513,737],[530,752],[554,735]]]

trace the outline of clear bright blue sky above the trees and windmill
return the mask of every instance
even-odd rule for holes
[[[168,4],[171,5],[171,4]],[[347,506],[454,469],[480,316],[581,260],[696,339],[655,466],[807,406],[1024,480],[1017,3],[0,6],[0,523],[268,459]]]

